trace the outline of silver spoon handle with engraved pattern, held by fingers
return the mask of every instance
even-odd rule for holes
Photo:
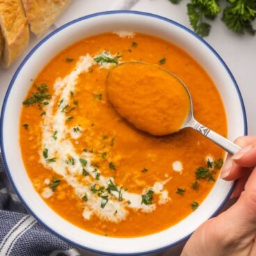
[[[230,154],[235,154],[237,151],[241,150],[241,147],[232,143],[227,138],[217,134],[215,131],[211,131],[205,125],[200,124],[200,122],[196,121],[191,126],[195,131],[198,131],[200,134],[204,135],[205,137],[209,138],[211,141],[219,145],[223,148],[223,150],[227,151]]]

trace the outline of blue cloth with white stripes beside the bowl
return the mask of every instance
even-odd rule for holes
[[[0,256],[47,255],[80,253],[29,215],[8,181],[0,154]]]

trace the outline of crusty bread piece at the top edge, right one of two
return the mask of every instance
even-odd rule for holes
[[[22,0],[31,32],[42,35],[72,0]]]

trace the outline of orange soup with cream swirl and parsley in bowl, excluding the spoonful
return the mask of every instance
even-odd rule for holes
[[[110,237],[145,236],[182,221],[211,191],[224,157],[192,129],[152,136],[123,119],[108,100],[106,76],[128,61],[173,72],[191,92],[195,118],[227,135],[213,81],[170,42],[140,33],[104,33],[54,57],[23,102],[24,165],[51,209],[88,232]]]

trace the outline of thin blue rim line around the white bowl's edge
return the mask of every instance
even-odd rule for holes
[[[175,21],[173,21],[172,19],[168,19],[166,17],[162,17],[159,15],[154,15],[152,13],[144,13],[144,12],[139,12],[139,11],[134,11],[134,10],[112,10],[112,11],[106,11],[106,12],[101,12],[101,13],[93,13],[91,15],[86,15],[83,17],[80,17],[78,19],[74,19],[71,22],[67,22],[66,24],[64,24],[63,26],[60,26],[58,29],[56,29],[55,31],[49,33],[49,35],[47,35],[45,38],[43,38],[40,42],[38,42],[37,45],[35,45],[35,47],[33,47],[33,49],[29,52],[29,54],[24,58],[24,60],[22,61],[22,63],[19,65],[17,71],[15,72],[13,79],[10,81],[10,85],[8,86],[8,90],[6,92],[6,95],[4,97],[3,100],[3,106],[2,106],[2,110],[1,110],[1,119],[0,119],[0,132],[1,132],[1,141],[0,141],[0,146],[1,146],[1,154],[3,157],[3,163],[4,166],[6,168],[6,173],[8,175],[8,178],[10,179],[10,183],[13,185],[13,188],[15,189],[15,192],[17,193],[17,195],[19,196],[19,199],[22,201],[22,203],[24,204],[24,206],[26,207],[26,209],[28,209],[28,211],[34,216],[34,218],[41,223],[43,226],[47,227],[48,230],[50,230],[53,234],[55,234],[57,237],[60,237],[61,239],[67,241],[68,243],[72,243],[74,246],[78,246],[79,248],[82,248],[84,250],[89,250],[92,251],[94,253],[99,253],[99,254],[105,254],[105,255],[147,255],[150,253],[157,253],[161,250],[166,250],[168,248],[177,246],[179,243],[182,243],[183,241],[186,241],[186,239],[189,239],[189,237],[191,237],[191,234],[187,235],[186,237],[184,237],[183,239],[179,239],[178,241],[176,241],[175,243],[171,243],[168,246],[164,246],[161,248],[157,248],[155,250],[150,250],[150,251],[145,251],[145,252],[141,252],[141,253],[106,253],[100,250],[95,250],[92,248],[87,248],[86,246],[83,246],[81,244],[78,244],[74,241],[70,241],[70,239],[66,239],[65,237],[63,237],[61,234],[58,234],[57,232],[55,232],[54,230],[51,229],[51,227],[47,226],[42,220],[40,220],[40,218],[38,218],[38,216],[36,216],[33,211],[30,209],[30,207],[28,205],[26,205],[25,200],[22,198],[22,196],[19,194],[19,191],[17,191],[17,188],[15,186],[15,183],[13,182],[13,178],[10,174],[10,170],[8,169],[8,164],[6,161],[6,155],[4,152],[4,147],[3,147],[3,118],[4,118],[4,113],[5,113],[5,109],[6,109],[6,103],[8,101],[8,97],[10,95],[10,90],[13,88],[13,84],[15,83],[15,80],[20,72],[20,70],[22,70],[22,67],[24,66],[24,64],[26,63],[26,61],[29,60],[29,58],[31,58],[31,56],[33,55],[33,53],[44,43],[46,42],[49,38],[51,38],[53,35],[55,35],[56,33],[58,33],[58,31],[61,31],[63,29],[65,29],[67,26],[70,26],[72,24],[75,24],[77,22],[80,22],[84,19],[90,19],[93,17],[97,17],[97,16],[103,16],[103,15],[115,15],[115,14],[132,14],[132,15],[142,15],[142,16],[147,16],[147,17],[152,17],[155,19],[161,19],[165,22],[168,22],[170,24],[173,24],[175,26],[178,26],[180,29],[183,29],[184,31],[190,33],[191,35],[193,35],[195,38],[198,38],[198,40],[200,40],[200,42],[202,42],[204,45],[206,45],[211,52],[218,58],[218,61],[221,62],[221,64],[223,65],[223,67],[225,68],[225,70],[227,71],[227,73],[229,74],[230,78],[232,79],[233,83],[234,83],[234,87],[237,90],[237,94],[239,96],[239,100],[240,100],[240,104],[241,104],[241,109],[243,112],[243,125],[244,125],[244,135],[247,135],[248,132],[248,127],[247,127],[247,118],[246,118],[246,109],[243,103],[243,98],[241,96],[241,92],[239,90],[239,86],[237,85],[237,81],[234,79],[234,76],[232,75],[232,72],[230,71],[230,69],[227,67],[226,63],[223,61],[223,59],[221,58],[221,56],[218,55],[218,53],[214,50],[213,47],[211,47],[211,45],[208,44],[208,42],[206,42],[205,40],[203,40],[202,38],[200,38],[199,35],[197,35],[196,33],[194,33],[193,31],[191,31],[190,29],[186,28],[186,26],[183,26],[182,24],[179,24]],[[232,188],[230,189],[229,193],[227,193],[225,199],[223,200],[223,202],[221,203],[221,205],[218,207],[218,209],[216,209],[216,211],[214,212],[214,214],[211,215],[211,218],[213,218],[214,216],[216,216],[218,214],[219,211],[221,211],[223,205],[225,205],[225,202],[227,202],[228,198],[230,198],[230,195],[232,193],[232,191],[234,190],[234,186],[235,186],[236,182],[234,182],[234,184],[232,185]]]

